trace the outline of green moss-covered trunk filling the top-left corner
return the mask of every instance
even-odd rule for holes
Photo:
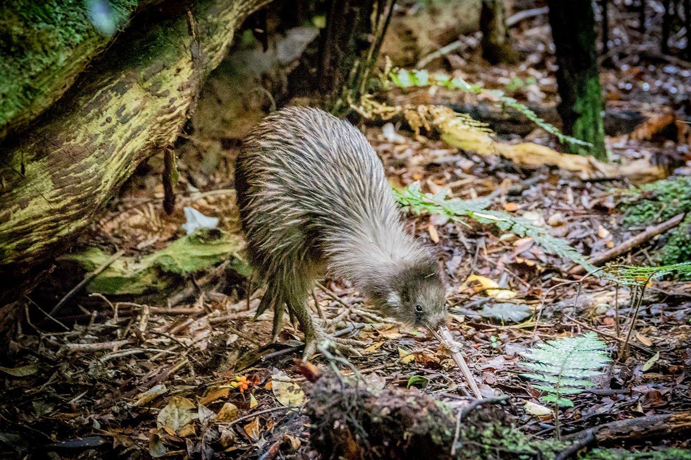
[[[0,6],[0,139],[35,119],[154,0],[108,2],[112,30],[89,19],[86,1],[8,0]],[[40,26],[37,26],[39,25]]]

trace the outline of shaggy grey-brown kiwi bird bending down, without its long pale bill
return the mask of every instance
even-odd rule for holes
[[[305,357],[324,335],[307,310],[316,279],[348,279],[382,313],[414,326],[446,320],[433,253],[407,234],[381,161],[347,121],[285,108],[245,139],[235,172],[255,276],[267,285],[257,314],[284,306],[305,332]]]

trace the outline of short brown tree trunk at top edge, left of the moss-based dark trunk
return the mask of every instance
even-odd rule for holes
[[[482,0],[480,10],[482,57],[491,64],[516,63],[518,53],[513,48],[507,27],[504,0]]]

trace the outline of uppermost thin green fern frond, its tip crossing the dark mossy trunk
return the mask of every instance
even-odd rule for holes
[[[581,141],[575,137],[567,136],[558,130],[555,126],[547,123],[547,121],[538,117],[538,115],[530,110],[524,104],[516,101],[513,97],[509,97],[501,90],[487,90],[477,85],[471,85],[461,77],[451,77],[447,74],[435,72],[430,74],[426,70],[407,70],[399,68],[389,68],[382,74],[381,83],[384,88],[390,88],[391,85],[399,88],[411,88],[416,86],[442,86],[452,90],[461,90],[463,92],[470,92],[473,94],[482,95],[487,99],[495,101],[502,107],[511,107],[527,119],[536,123],[543,130],[549,132],[559,139],[560,143],[569,143],[571,145],[592,147],[591,143]]]

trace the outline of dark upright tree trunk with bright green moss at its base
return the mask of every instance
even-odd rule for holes
[[[559,114],[564,132],[592,144],[571,146],[572,153],[606,160],[603,97],[596,52],[595,17],[589,0],[548,0],[556,48]]]

